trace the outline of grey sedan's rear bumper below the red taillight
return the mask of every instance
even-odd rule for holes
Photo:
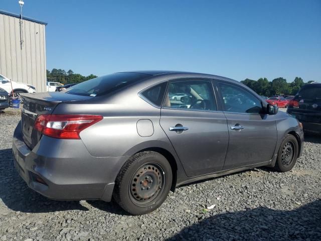
[[[110,201],[114,180],[128,157],[91,156],[81,140],[43,136],[33,150],[22,139],[18,124],[13,138],[16,169],[28,186],[59,200]]]

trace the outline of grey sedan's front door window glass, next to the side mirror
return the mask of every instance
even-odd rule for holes
[[[220,83],[224,111],[236,113],[261,113],[261,101],[245,89],[233,84]]]

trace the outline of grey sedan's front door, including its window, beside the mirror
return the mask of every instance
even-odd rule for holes
[[[219,81],[218,87],[229,132],[224,170],[270,161],[277,141],[274,117],[261,114],[261,100],[240,85]]]

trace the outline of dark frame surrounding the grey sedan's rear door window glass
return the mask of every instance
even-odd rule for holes
[[[166,91],[165,91],[165,95],[163,97],[163,102],[162,102],[162,109],[173,109],[173,110],[188,110],[188,111],[203,111],[203,112],[222,112],[219,110],[218,108],[218,102],[217,102],[217,97],[216,97],[216,93],[215,93],[215,90],[214,90],[214,85],[213,85],[213,80],[212,78],[202,78],[202,77],[181,77],[181,78],[173,78],[173,79],[169,79],[167,80],[168,81],[168,84],[167,84],[167,87],[166,87]],[[165,104],[165,99],[168,94],[168,91],[169,91],[169,85],[170,85],[170,82],[173,82],[173,81],[177,81],[177,82],[180,82],[180,81],[206,81],[206,82],[209,82],[210,85],[212,86],[212,94],[214,96],[214,99],[215,99],[215,105],[216,105],[216,110],[202,110],[202,109],[186,109],[186,108],[171,108],[171,107],[166,107],[164,106]]]

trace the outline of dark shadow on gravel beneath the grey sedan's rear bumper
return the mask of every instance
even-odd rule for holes
[[[21,212],[88,210],[79,201],[51,200],[30,189],[15,169],[12,149],[0,150],[0,199],[8,208]]]

